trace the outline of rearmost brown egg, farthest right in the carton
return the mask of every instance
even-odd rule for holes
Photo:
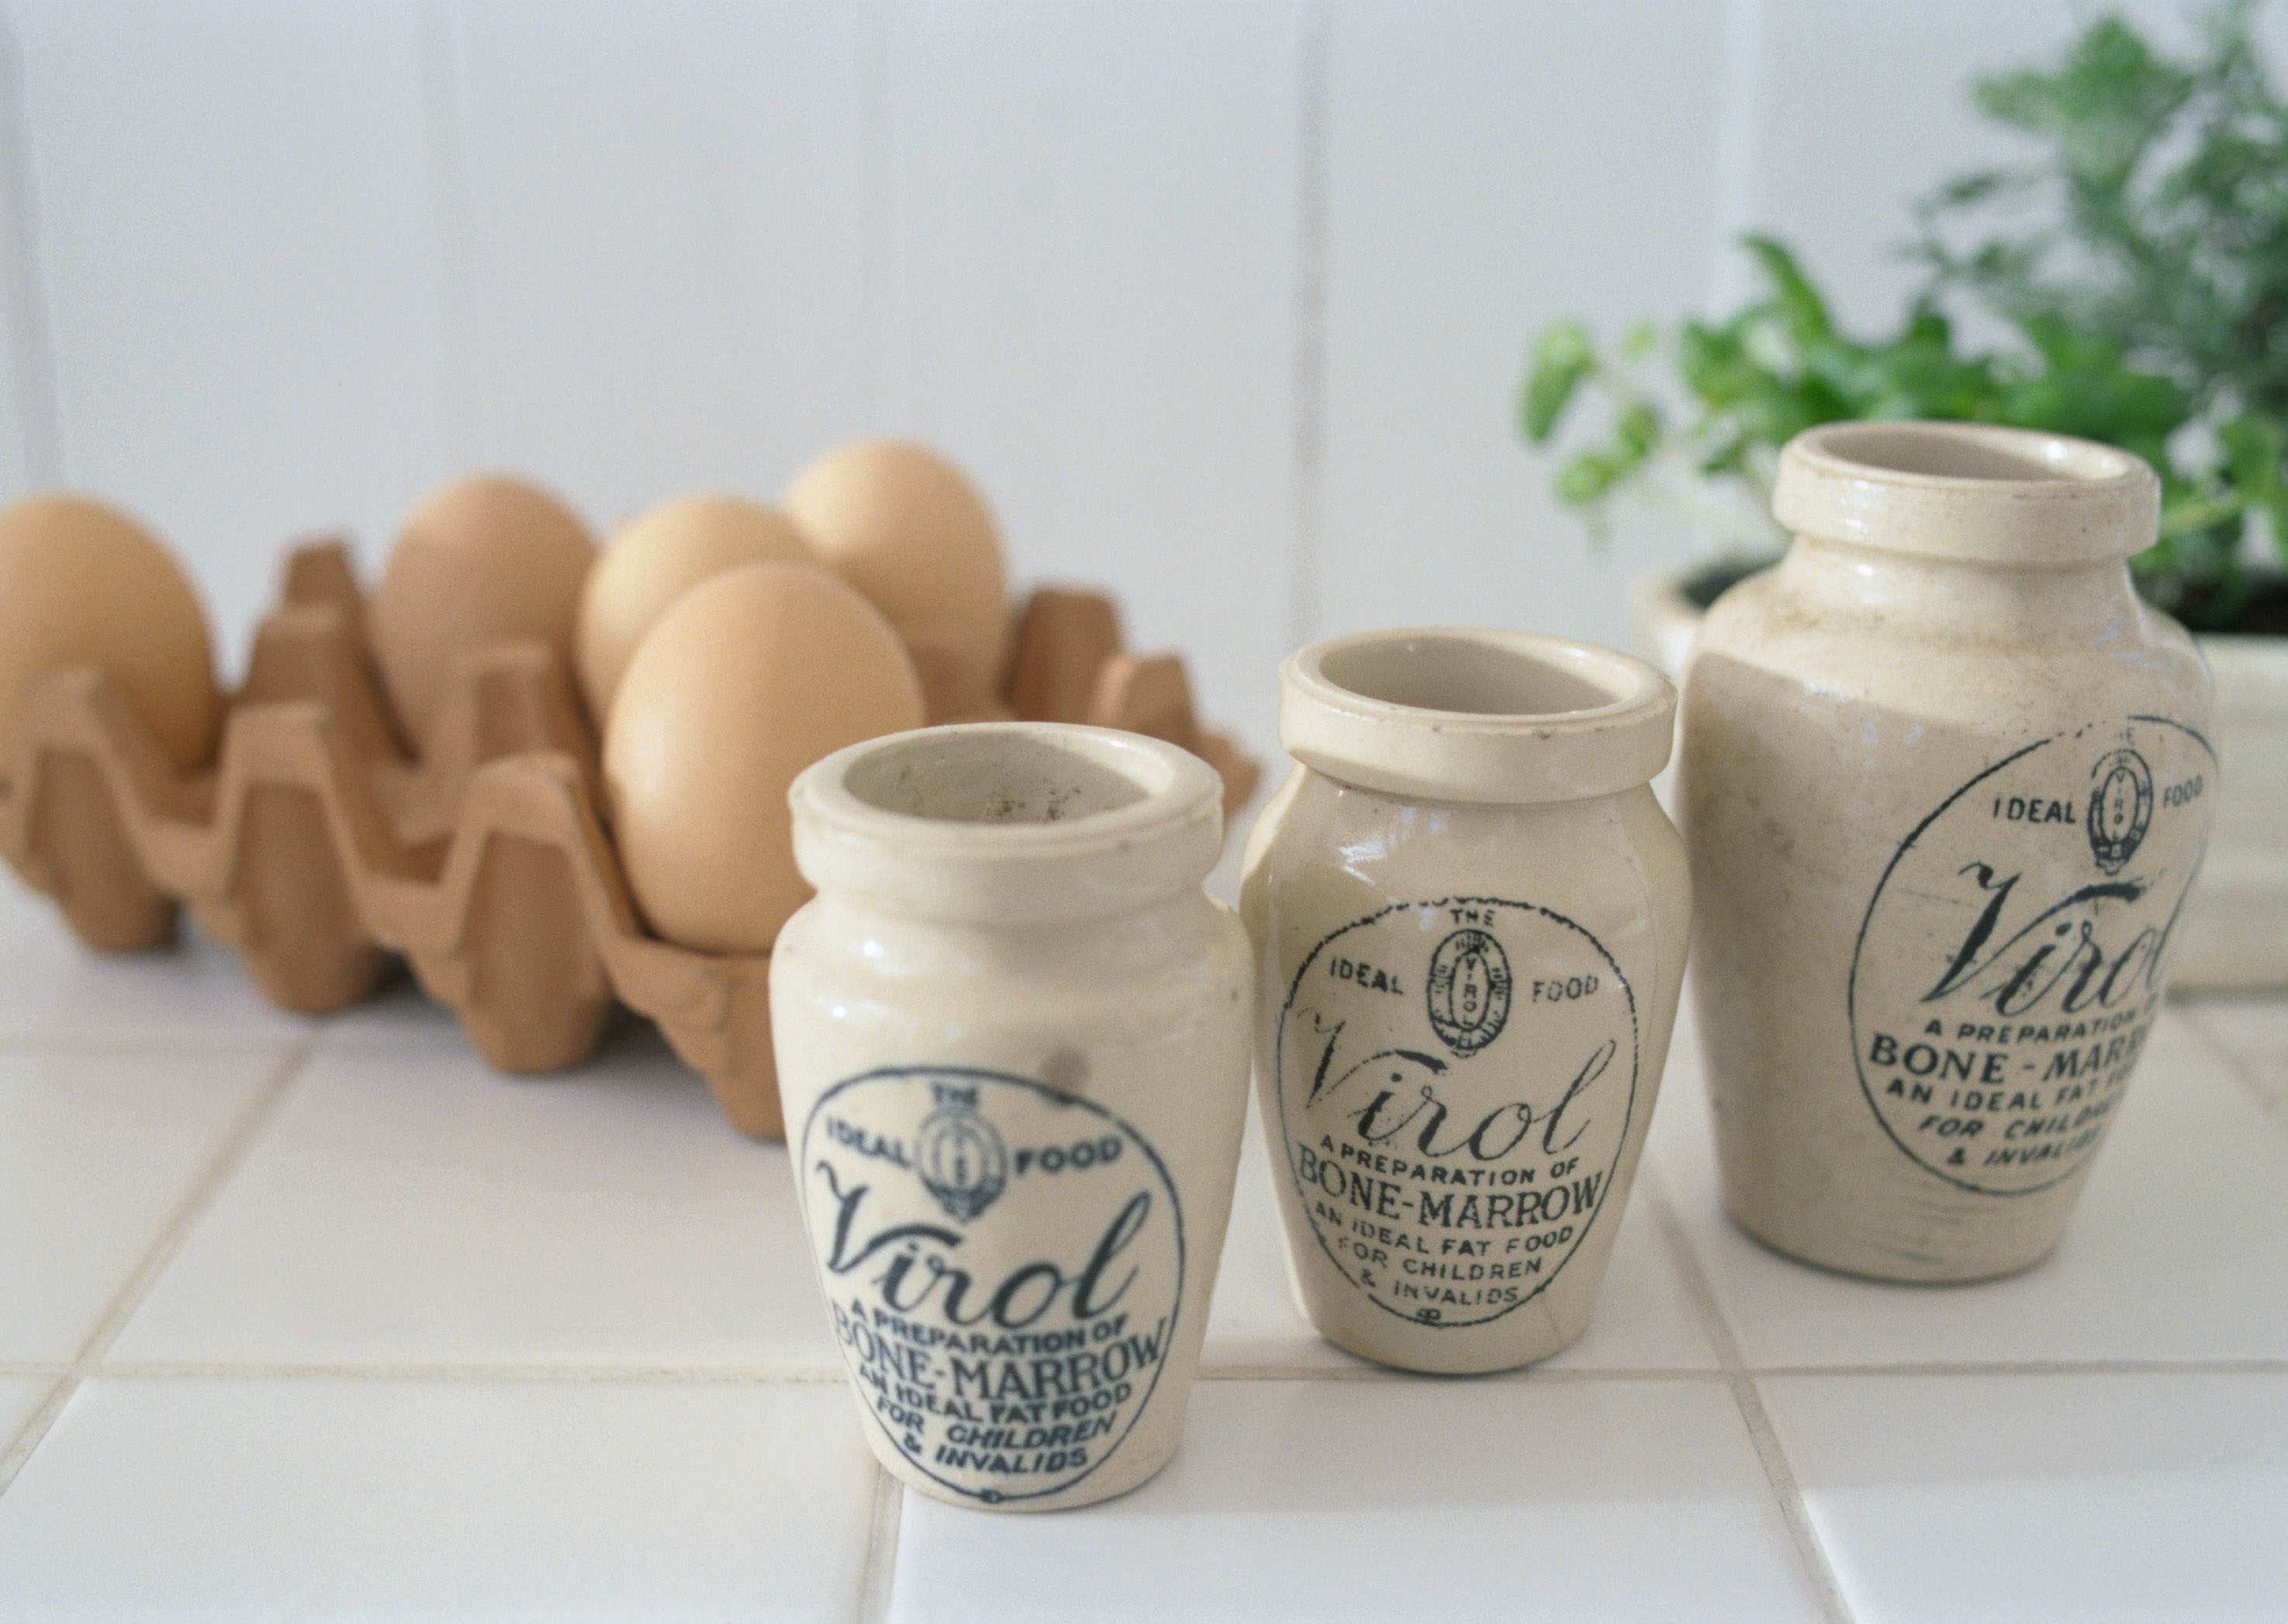
[[[817,457],[780,501],[897,627],[929,721],[991,714],[1009,602],[1000,533],[961,471],[922,446],[865,439]]]

